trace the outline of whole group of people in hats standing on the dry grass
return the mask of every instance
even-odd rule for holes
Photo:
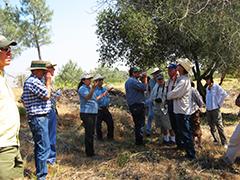
[[[20,154],[19,129],[20,117],[13,92],[5,77],[4,68],[11,63],[11,47],[15,41],[9,41],[0,35],[0,180],[22,179],[23,160]],[[29,127],[34,140],[34,157],[37,179],[46,179],[47,164],[56,162],[56,101],[61,91],[55,91],[52,84],[56,64],[49,61],[32,61],[31,75],[26,79],[21,96],[26,109]],[[135,144],[145,144],[144,134],[151,136],[152,121],[163,134],[162,143],[176,144],[186,152],[188,159],[195,159],[194,137],[201,146],[200,109],[203,101],[193,87],[189,75],[193,64],[187,58],[177,59],[177,64],[167,67],[169,79],[164,80],[160,69],[154,69],[152,78],[148,78],[139,67],[131,67],[125,83],[126,99],[132,115],[135,131]],[[93,83],[92,83],[93,80]],[[84,73],[80,78],[77,91],[80,98],[80,118],[85,129],[85,152],[88,157],[95,155],[94,136],[104,139],[102,122],[107,124],[107,139],[114,140],[114,122],[109,111],[109,91],[103,87],[104,77]],[[206,115],[214,143],[219,140],[227,147],[220,108],[227,93],[206,78]],[[147,113],[145,111],[147,109]],[[145,117],[147,125],[145,127]],[[240,155],[240,127],[234,131],[227,153],[223,160],[234,163]]]

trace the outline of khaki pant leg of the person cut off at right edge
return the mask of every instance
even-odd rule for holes
[[[225,157],[230,161],[230,163],[234,163],[237,157],[240,156],[240,124],[237,125],[234,130],[228,145],[228,149]]]

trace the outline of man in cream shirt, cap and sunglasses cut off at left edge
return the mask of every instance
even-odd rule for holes
[[[20,117],[4,68],[11,63],[11,46],[17,43],[0,35],[0,179],[23,178],[20,155]]]

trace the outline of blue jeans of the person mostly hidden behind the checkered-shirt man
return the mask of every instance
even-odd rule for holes
[[[48,123],[48,132],[49,132],[49,141],[50,141],[50,154],[47,159],[47,162],[54,164],[56,161],[56,141],[57,141],[57,114],[56,109],[52,108],[48,114],[49,123]]]

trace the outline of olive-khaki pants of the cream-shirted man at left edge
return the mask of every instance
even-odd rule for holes
[[[23,161],[19,147],[0,147],[0,180],[23,179]]]

